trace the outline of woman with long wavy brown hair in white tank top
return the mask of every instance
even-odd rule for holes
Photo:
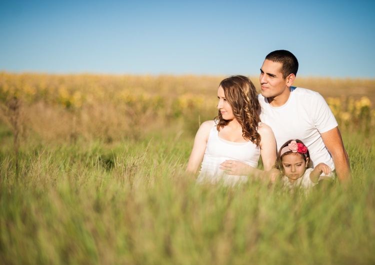
[[[260,122],[255,86],[242,75],[220,82],[217,90],[218,114],[204,121],[196,132],[186,172],[198,182],[235,184],[249,174],[262,176],[257,169],[259,155],[264,170],[276,160],[276,141],[271,128]],[[243,162],[243,163],[239,163]]]

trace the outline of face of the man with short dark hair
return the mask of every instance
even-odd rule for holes
[[[276,97],[289,91],[286,86],[288,78],[282,78],[281,66],[280,62],[264,60],[259,75],[261,94],[264,97]]]

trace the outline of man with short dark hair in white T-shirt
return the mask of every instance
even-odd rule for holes
[[[260,68],[260,119],[269,125],[277,150],[289,139],[301,140],[309,149],[313,166],[329,165],[341,182],[351,179],[350,165],[337,121],[317,92],[291,86],[298,70],[296,57],[287,50],[275,50]],[[240,162],[227,160],[221,169],[243,171]],[[334,175],[330,176],[334,177]]]

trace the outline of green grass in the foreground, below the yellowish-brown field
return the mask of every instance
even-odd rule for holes
[[[373,264],[373,143],[343,133],[352,184],[307,196],[183,175],[193,136],[0,148],[1,264]]]

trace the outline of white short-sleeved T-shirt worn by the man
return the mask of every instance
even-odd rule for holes
[[[299,139],[307,146],[313,167],[322,162],[334,170],[333,159],[320,133],[336,127],[337,121],[318,92],[291,86],[288,100],[279,107],[271,106],[261,94],[258,99],[260,119],[272,128],[277,150],[286,141]]]

